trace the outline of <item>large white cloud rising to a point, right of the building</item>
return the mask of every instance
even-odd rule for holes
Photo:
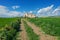
[[[50,16],[52,15],[52,8],[54,5],[48,6],[46,8],[39,9],[37,11],[37,16]]]

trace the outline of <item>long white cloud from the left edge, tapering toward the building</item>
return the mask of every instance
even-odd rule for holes
[[[21,12],[10,11],[8,7],[0,5],[0,17],[16,17],[21,16]]]

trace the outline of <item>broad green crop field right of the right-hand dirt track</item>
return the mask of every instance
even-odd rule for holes
[[[40,27],[46,34],[60,36],[60,18],[28,18],[28,20]]]

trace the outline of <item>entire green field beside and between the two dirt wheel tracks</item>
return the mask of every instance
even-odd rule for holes
[[[45,34],[56,36],[60,40],[60,18],[27,18],[27,20],[41,28]],[[36,35],[25,21],[23,22],[29,40],[39,40],[39,35]],[[16,34],[20,24],[21,18],[0,18],[0,39],[17,40]]]

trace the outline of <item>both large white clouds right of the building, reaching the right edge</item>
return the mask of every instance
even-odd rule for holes
[[[57,16],[60,15],[60,7],[57,7],[56,9],[53,9],[54,5],[41,8],[37,11],[37,16]]]

